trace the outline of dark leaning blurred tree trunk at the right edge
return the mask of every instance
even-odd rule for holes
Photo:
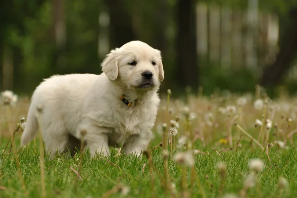
[[[262,86],[279,84],[297,54],[297,7],[291,10],[290,19],[286,32],[281,35],[280,51],[275,62],[263,71],[260,79]]]

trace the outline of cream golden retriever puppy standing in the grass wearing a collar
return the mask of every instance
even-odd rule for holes
[[[45,79],[33,93],[21,146],[34,139],[40,126],[51,157],[69,149],[73,155],[82,139],[92,156],[108,155],[108,147],[115,145],[126,154],[146,149],[164,79],[161,52],[131,41],[111,50],[101,67],[100,75]]]

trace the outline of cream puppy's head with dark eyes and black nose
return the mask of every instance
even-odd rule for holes
[[[150,90],[164,79],[161,52],[141,41],[111,50],[101,67],[109,80],[128,89]]]

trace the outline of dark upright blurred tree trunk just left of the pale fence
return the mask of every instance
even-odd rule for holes
[[[198,87],[196,1],[177,3],[177,74],[175,79],[185,88]]]

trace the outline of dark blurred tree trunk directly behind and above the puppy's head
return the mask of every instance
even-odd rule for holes
[[[132,16],[124,0],[104,0],[109,8],[109,45],[119,48],[127,42],[135,40],[132,27]]]

